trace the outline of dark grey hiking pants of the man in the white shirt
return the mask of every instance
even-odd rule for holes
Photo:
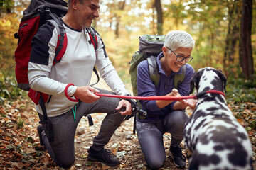
[[[114,94],[110,91],[99,89],[102,94]],[[90,113],[107,113],[100,127],[100,131],[93,140],[92,148],[101,150],[117,130],[119,125],[124,120],[125,115],[121,115],[119,111],[124,111],[125,108],[116,111],[119,104],[119,98],[102,97],[94,103],[84,103],[79,101],[76,106],[76,119],[74,120],[73,111],[70,110],[63,115],[48,117],[53,123],[54,141],[49,142],[46,133],[41,133],[43,144],[48,149],[48,153],[54,161],[62,167],[69,167],[75,162],[75,131],[82,116]],[[43,120],[43,115],[38,114],[40,120]],[[46,127],[43,127],[46,128]]]

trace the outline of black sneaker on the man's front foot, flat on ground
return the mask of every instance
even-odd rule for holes
[[[88,152],[89,161],[102,162],[107,166],[117,166],[119,164],[119,160],[114,156],[114,154],[112,154],[112,152],[110,152],[109,149],[102,149],[101,151],[97,152],[95,149],[90,147]]]

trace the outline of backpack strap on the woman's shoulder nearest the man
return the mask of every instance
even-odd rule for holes
[[[150,56],[146,58],[149,65],[149,77],[153,81],[153,84],[157,86],[160,81],[159,68],[157,66],[157,58],[154,56]]]

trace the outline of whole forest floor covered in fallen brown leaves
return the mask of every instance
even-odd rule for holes
[[[230,108],[237,106],[230,104]],[[246,103],[246,108],[241,112],[241,125],[247,127],[248,116],[256,117],[256,104]],[[188,110],[188,113],[191,113]],[[234,114],[238,114],[235,112]],[[133,134],[134,118],[125,120],[116,130],[110,142],[105,146],[110,149],[120,160],[119,166],[107,166],[100,162],[87,160],[87,149],[92,145],[92,139],[100,129],[100,123],[105,117],[103,113],[92,115],[94,125],[87,123],[87,118],[82,118],[75,135],[75,164],[72,169],[149,169],[139,147],[137,135]],[[50,158],[44,147],[39,144],[36,127],[38,115],[33,103],[29,99],[19,98],[13,102],[6,102],[0,106],[0,169],[63,169],[57,166]],[[249,129],[248,135],[252,143],[253,167],[256,169],[256,130]],[[166,149],[166,162],[161,169],[178,169],[169,157],[171,135],[164,134]]]

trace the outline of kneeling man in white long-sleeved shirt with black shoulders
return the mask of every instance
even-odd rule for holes
[[[53,65],[57,43],[57,30],[52,23],[38,29],[31,45],[31,59],[28,78],[31,89],[49,94],[46,103],[48,121],[53,124],[54,140],[48,140],[46,125],[38,126],[41,145],[45,145],[54,161],[62,167],[75,162],[74,137],[77,125],[90,113],[107,113],[100,132],[88,150],[90,161],[100,161],[108,166],[117,166],[119,160],[104,146],[114,131],[132,113],[129,101],[117,98],[100,98],[96,93],[129,95],[122,80],[105,52],[105,45],[97,35],[97,49],[90,42],[85,28],[90,28],[92,20],[99,17],[99,0],[69,0],[68,13],[62,18],[68,38],[68,46],[60,62]],[[94,65],[113,92],[88,86]],[[76,101],[75,98],[79,98]],[[40,106],[36,106],[43,122]]]

